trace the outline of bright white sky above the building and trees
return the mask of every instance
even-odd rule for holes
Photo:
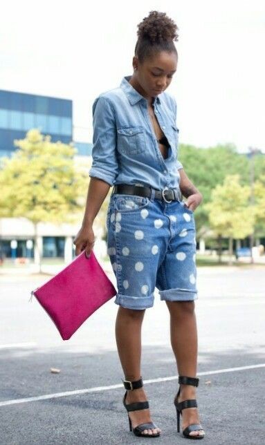
[[[91,142],[93,101],[133,73],[152,10],[179,28],[179,142],[265,153],[264,0],[2,0],[0,89],[73,100],[74,140]]]

